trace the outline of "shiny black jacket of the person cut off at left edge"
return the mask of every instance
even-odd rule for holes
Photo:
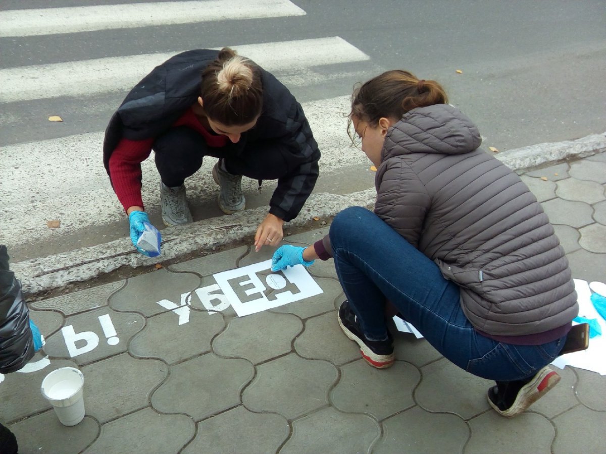
[[[6,246],[0,245],[0,373],[21,369],[33,355],[29,310],[21,283],[8,269]]]

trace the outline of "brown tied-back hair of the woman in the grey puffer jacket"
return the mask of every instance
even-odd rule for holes
[[[351,95],[348,130],[351,117],[375,126],[381,117],[399,120],[414,108],[447,102],[446,92],[438,82],[419,80],[408,71],[387,71],[364,82]]]

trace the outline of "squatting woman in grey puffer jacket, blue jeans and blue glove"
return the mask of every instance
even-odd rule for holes
[[[354,93],[350,122],[377,167],[374,212],[345,209],[315,245],[279,248],[272,269],[333,257],[339,325],[371,366],[393,364],[395,306],[444,357],[496,380],[495,410],[521,413],[558,383],[548,364],[578,314],[547,215],[435,81],[387,71]]]

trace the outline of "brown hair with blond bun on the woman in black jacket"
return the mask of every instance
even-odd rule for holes
[[[215,61],[202,71],[200,92],[204,113],[223,125],[245,125],[261,114],[259,68],[228,47],[222,48]]]

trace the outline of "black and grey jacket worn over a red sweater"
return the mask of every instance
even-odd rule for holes
[[[216,50],[190,50],[156,67],[133,88],[113,114],[105,131],[103,162],[109,174],[109,159],[122,137],[143,140],[164,133],[199,96],[201,73],[216,59]],[[270,212],[285,221],[294,219],[318,179],[320,151],[301,105],[281,82],[262,68],[263,111],[250,131],[230,153],[255,154],[275,147],[286,168],[270,200]],[[111,175],[110,175],[111,179]]]

